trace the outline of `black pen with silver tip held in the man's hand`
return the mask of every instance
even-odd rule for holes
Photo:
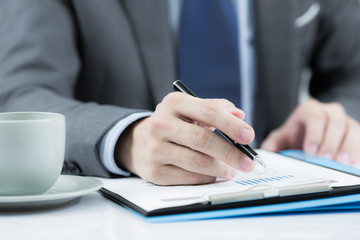
[[[186,94],[189,94],[191,96],[197,97],[193,91],[191,91],[183,82],[180,80],[176,80],[173,82],[173,88],[175,91],[183,92]],[[266,167],[265,162],[262,160],[261,156],[254,151],[249,145],[242,145],[240,143],[235,142],[228,136],[226,136],[225,133],[218,131],[226,140],[228,140],[230,143],[232,143],[235,147],[237,147],[240,151],[245,153],[251,160],[253,160],[255,163],[260,164],[263,167]]]

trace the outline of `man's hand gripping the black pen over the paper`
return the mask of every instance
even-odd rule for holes
[[[212,129],[249,144],[254,130],[244,117],[227,100],[170,93],[151,117],[134,123],[121,136],[115,158],[119,166],[159,185],[230,179],[238,170],[251,171],[255,164]]]

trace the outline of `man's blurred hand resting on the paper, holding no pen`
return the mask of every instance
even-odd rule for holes
[[[360,125],[339,103],[311,99],[299,105],[261,147],[274,152],[303,149],[345,164],[357,164],[360,161]]]

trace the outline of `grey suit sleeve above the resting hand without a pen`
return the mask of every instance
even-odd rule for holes
[[[311,58],[310,93],[342,103],[360,120],[360,2],[321,2],[318,37]]]

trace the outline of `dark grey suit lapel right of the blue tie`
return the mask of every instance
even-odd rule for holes
[[[254,118],[259,126],[266,125],[262,129],[265,134],[267,129],[279,126],[286,119],[294,107],[289,99],[294,99],[294,94],[297,96],[294,8],[289,0],[255,0],[253,7],[258,72],[255,102],[260,106]]]

